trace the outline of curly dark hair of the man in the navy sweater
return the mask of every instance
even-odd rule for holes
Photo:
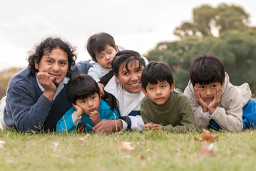
[[[36,72],[39,70],[35,67],[35,62],[40,63],[41,58],[50,53],[53,48],[59,48],[68,54],[68,72],[66,74],[67,77],[71,77],[71,66],[75,64],[76,61],[76,48],[71,46],[70,43],[61,40],[61,38],[46,38],[46,40],[42,41],[39,46],[35,47],[35,51],[29,51],[29,69],[31,76],[34,76]]]

